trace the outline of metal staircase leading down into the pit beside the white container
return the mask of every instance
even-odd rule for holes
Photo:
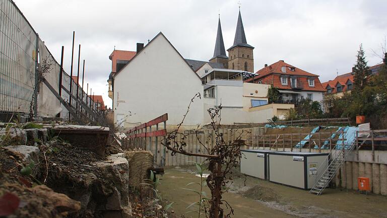
[[[343,165],[345,159],[349,156],[349,154],[351,154],[353,149],[356,147],[356,141],[354,140],[349,146],[342,145],[342,149],[336,149],[336,147],[337,145],[332,149],[331,154],[329,155],[331,156],[331,163],[329,163],[328,168],[319,177],[313,188],[310,189],[309,193],[320,195],[322,191],[324,191],[324,189],[328,187],[329,183],[335,177],[337,171]],[[326,159],[327,162],[330,159],[329,156]]]

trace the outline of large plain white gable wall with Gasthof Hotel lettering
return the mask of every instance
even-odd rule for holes
[[[114,120],[126,118],[125,127],[148,122],[168,113],[168,125],[177,125],[195,99],[184,125],[203,123],[203,85],[200,78],[159,34],[114,77]]]

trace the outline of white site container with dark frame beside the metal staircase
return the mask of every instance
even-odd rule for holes
[[[309,190],[328,168],[329,153],[276,152],[270,154],[270,182]]]

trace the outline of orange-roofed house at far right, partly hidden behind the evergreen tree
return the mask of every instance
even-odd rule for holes
[[[382,65],[378,64],[370,67],[371,75],[377,74]],[[350,92],[354,87],[353,74],[354,68],[352,68],[350,73],[338,75],[335,79],[322,83],[322,87],[327,90],[325,94],[341,97],[345,92]]]

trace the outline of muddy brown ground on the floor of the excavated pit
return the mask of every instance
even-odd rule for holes
[[[174,202],[173,210],[185,217],[186,207],[198,200],[197,194],[182,188],[197,188],[186,184],[200,182],[193,168],[171,169],[161,177],[158,189],[165,200]],[[223,199],[234,209],[233,217],[387,217],[387,197],[359,194],[356,191],[327,189],[320,196],[307,191],[273,184],[236,172]],[[209,192],[206,187],[205,191]],[[191,208],[192,209],[192,208]],[[193,208],[194,209],[194,208]]]

